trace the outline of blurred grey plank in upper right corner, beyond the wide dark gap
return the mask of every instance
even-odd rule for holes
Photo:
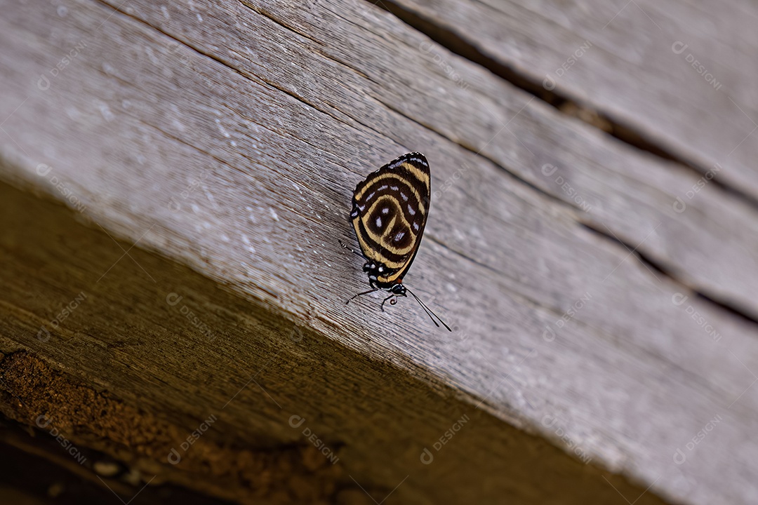
[[[428,21],[449,44],[465,41],[465,50],[530,86],[599,111],[703,174],[718,164],[716,180],[756,201],[753,2],[397,0],[385,6]]]

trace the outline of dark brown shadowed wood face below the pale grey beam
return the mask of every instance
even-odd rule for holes
[[[476,408],[398,350],[403,369],[368,359],[5,184],[0,211],[17,216],[0,235],[0,413],[36,441],[0,440],[105,492],[368,505],[614,500],[605,479],[644,491]],[[124,471],[97,472],[103,460]]]

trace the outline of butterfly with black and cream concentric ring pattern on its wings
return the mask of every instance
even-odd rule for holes
[[[382,289],[390,291],[381,302],[384,311],[384,302],[390,300],[390,305],[394,305],[397,297],[410,293],[437,328],[440,327],[439,320],[452,332],[440,316],[402,284],[424,235],[431,197],[430,179],[429,163],[424,154],[411,152],[368,174],[356,185],[350,221],[356,229],[362,254],[342,245],[365,258],[363,271],[368,274],[371,289],[353,296],[347,303]]]

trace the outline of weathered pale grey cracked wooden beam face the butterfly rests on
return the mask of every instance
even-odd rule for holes
[[[30,5],[0,20],[5,180],[356,355],[424,370],[503,429],[578,444],[641,491],[756,498],[758,332],[697,295],[758,314],[751,205],[708,184],[677,212],[692,170],[559,114],[366,2]],[[337,243],[353,240],[350,192],[413,150],[431,163],[433,199],[406,282],[453,338],[405,301],[387,313],[343,304],[365,284]],[[55,355],[89,365],[88,380],[102,373],[90,359]],[[149,391],[158,370],[140,371],[125,366],[114,391]]]

